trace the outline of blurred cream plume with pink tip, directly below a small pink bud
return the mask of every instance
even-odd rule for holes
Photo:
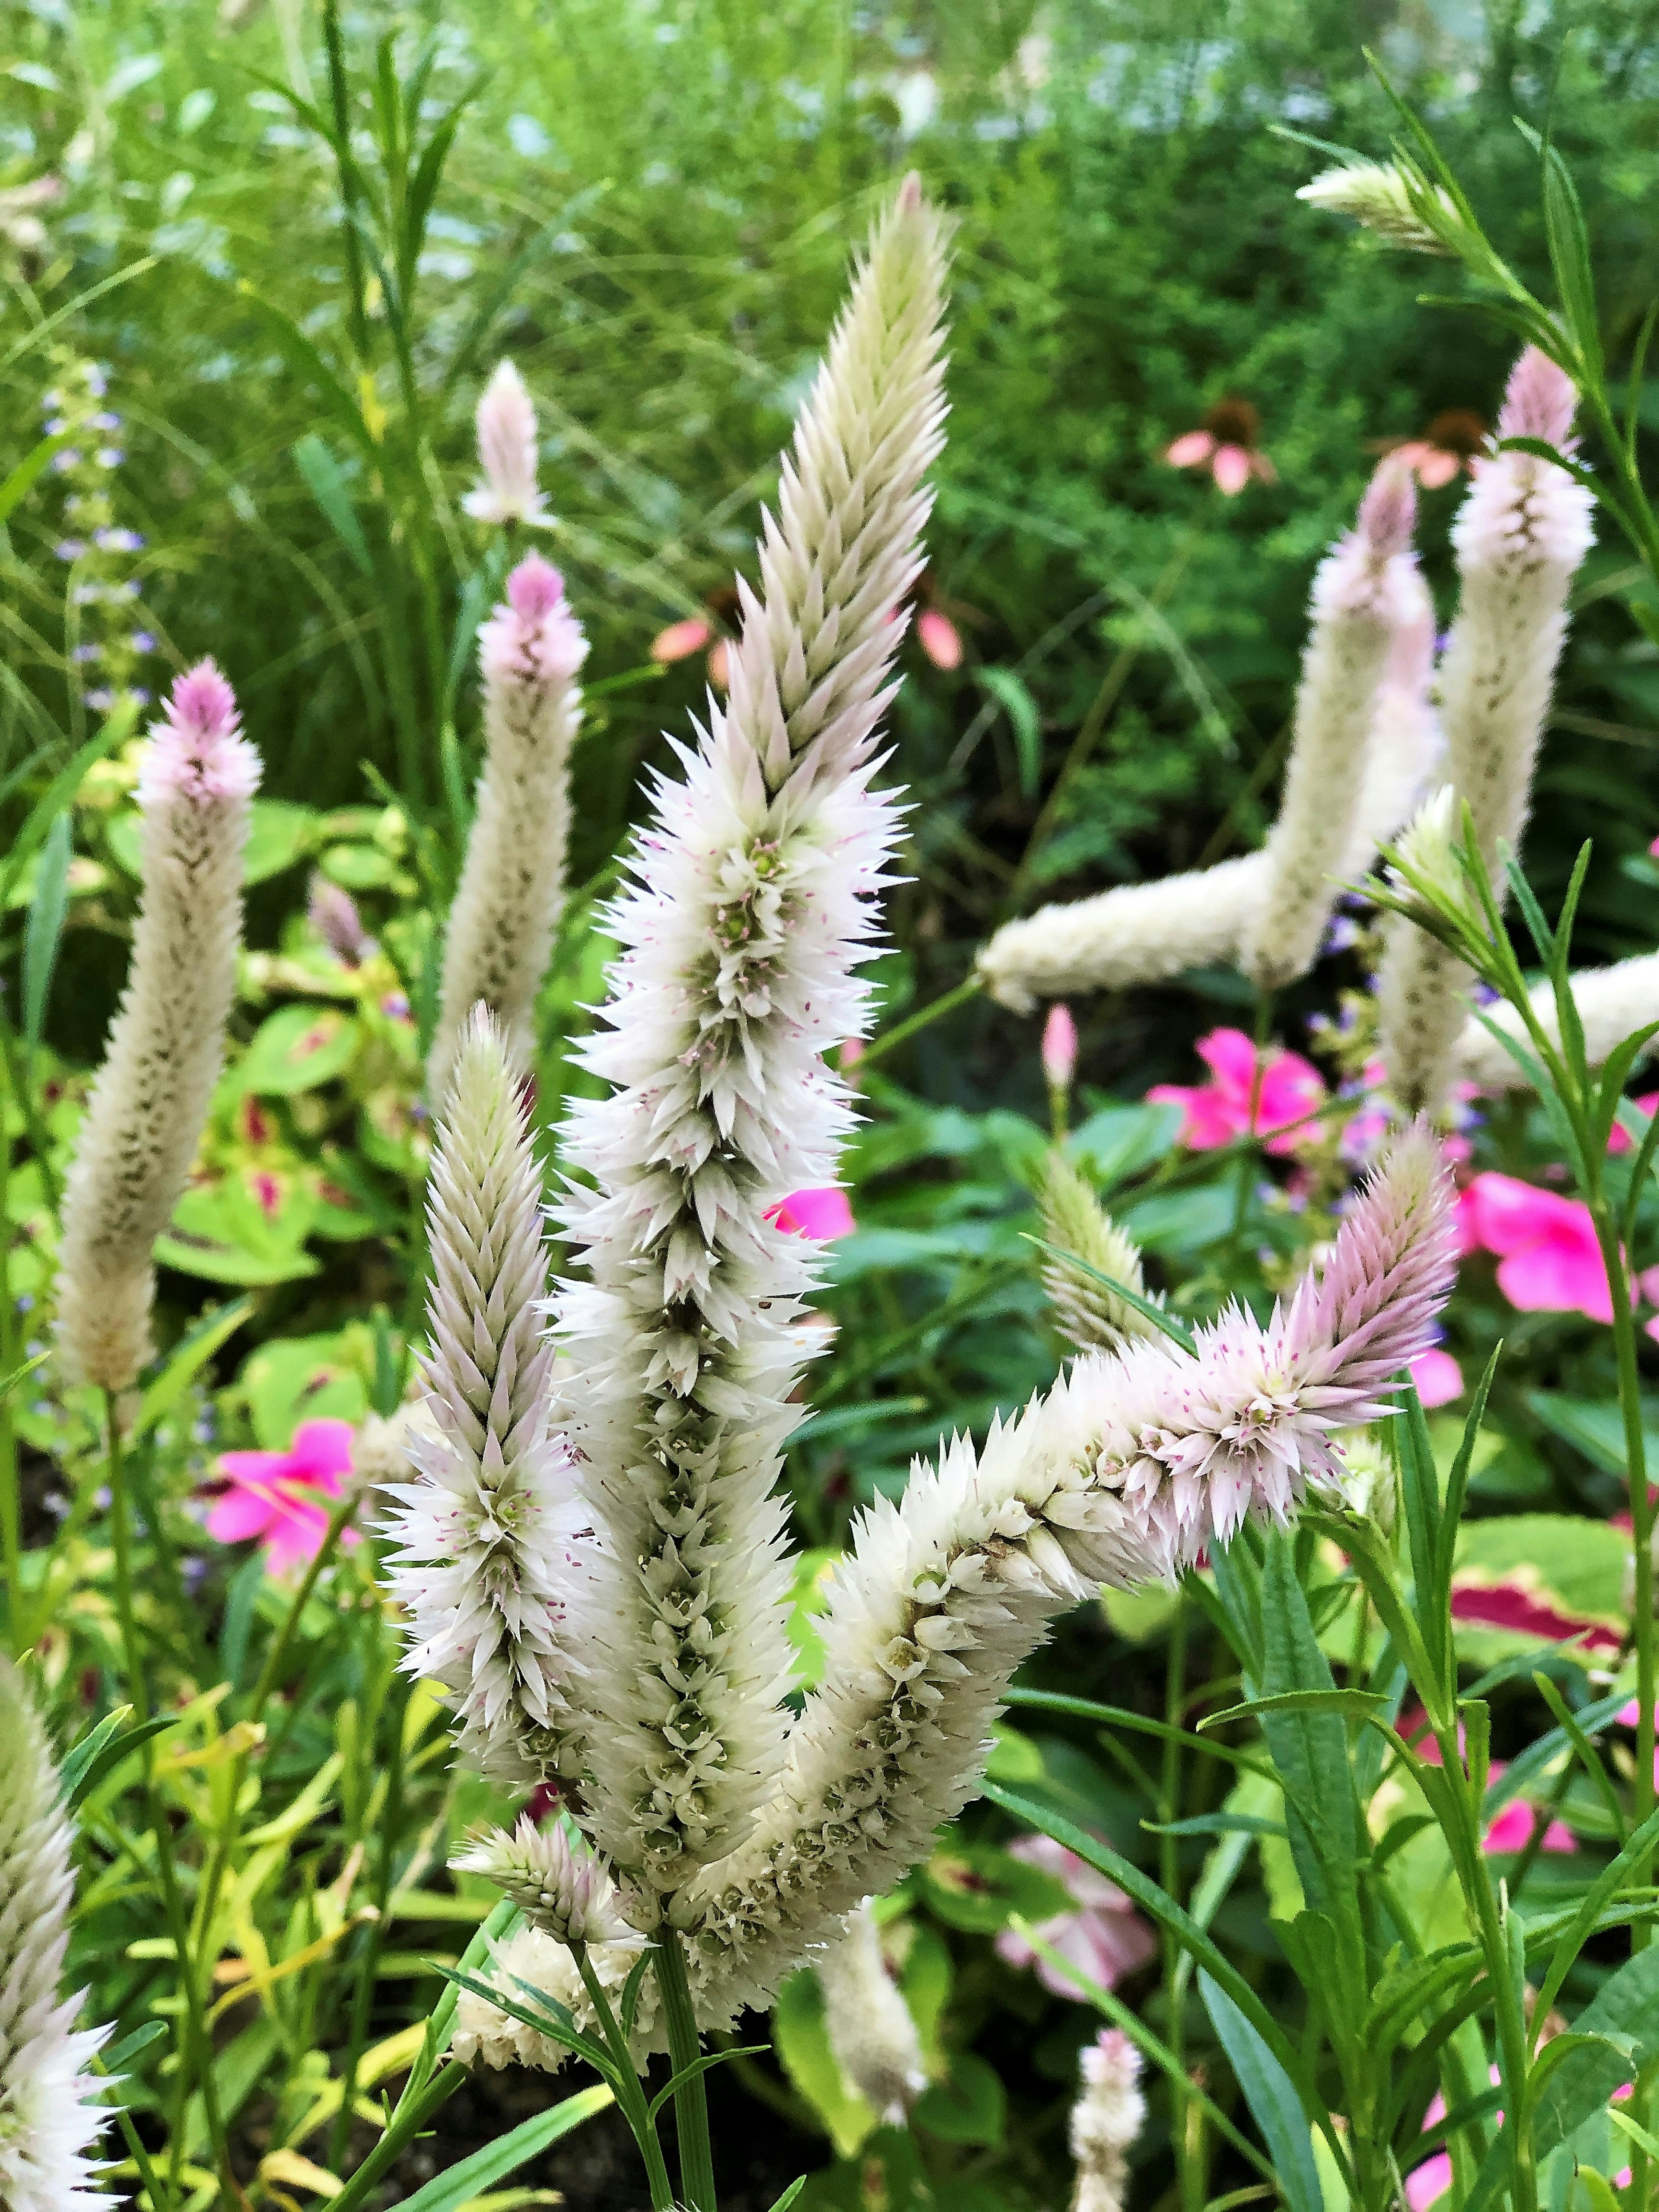
[[[564,900],[571,748],[582,726],[575,675],[588,657],[564,577],[531,553],[478,630],[484,772],[449,909],[427,1088],[440,1099],[462,1024],[482,1000],[522,1073],[535,1044],[535,993]]]

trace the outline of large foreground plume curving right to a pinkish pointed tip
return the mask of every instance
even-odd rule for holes
[[[710,2022],[763,2004],[858,1898],[891,1887],[978,1785],[1009,1677],[1048,1619],[1340,1493],[1332,1431],[1376,1418],[1433,1340],[1458,1265],[1427,1128],[1387,1155],[1329,1265],[1263,1327],[1232,1310],[1197,1354],[1088,1354],[980,1453],[956,1438],[878,1500],[836,1568],[825,1672],[752,1836],[672,1900]]]

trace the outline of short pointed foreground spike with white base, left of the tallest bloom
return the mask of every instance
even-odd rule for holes
[[[427,1422],[389,1482],[392,1595],[409,1615],[407,1672],[440,1683],[460,1747],[502,1781],[557,1770],[575,1670],[568,1610],[588,1573],[586,1515],[551,1427],[553,1347],[542,1177],[500,1031],[465,1029],[431,1157]]]

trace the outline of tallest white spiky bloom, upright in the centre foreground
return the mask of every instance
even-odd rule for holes
[[[730,697],[657,787],[624,945],[571,1115],[560,1407],[606,1537],[593,1599],[584,1820],[672,1889],[743,1834],[783,1759],[785,1506],[774,1491],[816,1250],[768,1210],[834,1181],[849,1128],[823,1055],[867,1022],[872,792],[894,608],[940,449],[942,234],[911,179],[876,226],[741,586]]]

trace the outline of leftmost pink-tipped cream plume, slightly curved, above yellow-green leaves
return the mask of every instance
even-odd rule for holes
[[[212,661],[179,677],[139,770],[144,896],[126,991],[64,1188],[58,1349],[126,1389],[150,1356],[155,1270],[223,1060],[237,984],[241,856],[259,754]]]

